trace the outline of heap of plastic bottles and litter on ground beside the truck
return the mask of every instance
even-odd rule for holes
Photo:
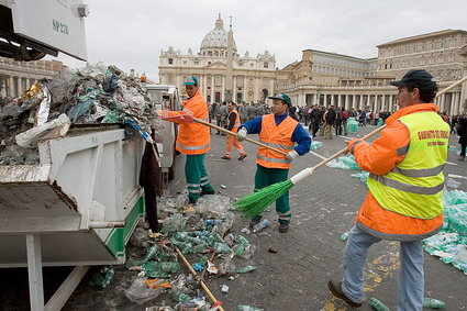
[[[186,195],[162,197],[160,233],[136,227],[130,238],[135,248],[129,251],[125,268],[135,277],[124,295],[131,302],[155,306],[146,310],[218,310],[219,303],[201,289],[204,277],[233,280],[257,269],[249,260],[256,246],[232,232],[235,216],[227,197],[204,196],[196,206],[187,203]],[[221,292],[227,293],[229,286]],[[238,310],[263,310],[244,307]]]

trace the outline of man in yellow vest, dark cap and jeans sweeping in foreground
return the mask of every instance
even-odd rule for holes
[[[422,310],[423,238],[443,227],[443,167],[449,126],[432,103],[436,82],[425,70],[410,70],[398,87],[399,111],[371,144],[352,140],[347,149],[369,171],[368,193],[351,230],[342,282],[330,280],[331,292],[360,307],[368,248],[381,240],[400,242],[398,310]],[[420,160],[420,159],[423,160]]]

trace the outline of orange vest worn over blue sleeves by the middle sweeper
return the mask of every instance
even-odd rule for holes
[[[259,142],[289,153],[294,149],[292,134],[298,122],[288,115],[279,125],[276,125],[274,114],[267,114],[262,119]],[[290,163],[286,160],[286,157],[282,154],[265,147],[259,147],[256,155],[256,163],[268,168],[290,168]]]

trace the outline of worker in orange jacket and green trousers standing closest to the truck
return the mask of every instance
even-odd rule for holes
[[[162,116],[190,115],[208,122],[208,103],[198,87],[198,78],[189,76],[185,82],[188,99],[184,101],[182,111],[162,110]],[[168,115],[165,115],[165,112]],[[176,149],[187,155],[185,163],[185,177],[187,179],[189,203],[196,204],[198,199],[204,195],[214,195],[208,171],[204,167],[204,155],[211,148],[211,135],[209,127],[192,122],[174,121],[179,124]]]

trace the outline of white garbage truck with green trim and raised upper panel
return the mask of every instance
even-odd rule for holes
[[[86,59],[87,15],[79,0],[0,0],[0,56]],[[0,165],[0,268],[27,267],[31,310],[60,310],[91,265],[125,262],[145,213],[146,141],[127,133],[123,124],[73,126],[38,142],[38,164]],[[44,266],[75,267],[46,303]]]

